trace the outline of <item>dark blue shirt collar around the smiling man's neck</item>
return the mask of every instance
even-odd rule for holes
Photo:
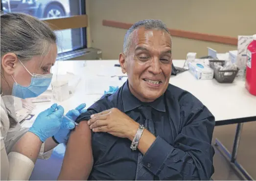
[[[141,102],[130,91],[128,80],[124,83],[122,91],[124,112],[131,111],[141,105],[149,105],[158,111],[165,112],[164,96],[162,95],[153,102]]]

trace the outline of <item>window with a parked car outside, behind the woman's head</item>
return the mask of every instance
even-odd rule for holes
[[[50,23],[58,37],[59,55],[87,48],[85,0],[1,0],[1,9]]]

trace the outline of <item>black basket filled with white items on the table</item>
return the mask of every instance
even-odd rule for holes
[[[225,60],[209,60],[210,68],[214,70],[214,79],[219,83],[232,83],[239,68]]]

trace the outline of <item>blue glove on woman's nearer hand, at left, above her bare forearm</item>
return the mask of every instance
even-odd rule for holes
[[[41,141],[45,142],[47,138],[52,137],[59,131],[63,113],[64,109],[62,106],[53,104],[37,116],[29,131],[37,135]]]

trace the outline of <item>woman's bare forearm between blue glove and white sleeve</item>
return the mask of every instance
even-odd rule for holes
[[[18,152],[28,157],[34,163],[37,160],[38,154],[42,146],[42,141],[34,133],[27,132],[13,146],[12,152]]]

